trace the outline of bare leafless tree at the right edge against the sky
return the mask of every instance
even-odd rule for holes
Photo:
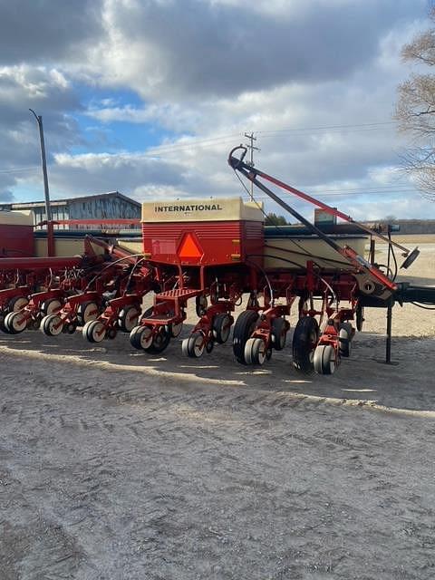
[[[430,10],[430,20],[435,26],[435,8]],[[412,136],[402,165],[423,194],[435,200],[435,74],[424,71],[426,66],[435,66],[435,27],[405,44],[401,55],[419,68],[398,89],[394,117],[401,131]]]

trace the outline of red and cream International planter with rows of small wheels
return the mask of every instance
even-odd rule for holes
[[[75,256],[16,257],[9,244],[0,261],[0,327],[13,334],[41,328],[54,336],[80,326],[91,343],[129,333],[134,348],[155,354],[179,336],[194,300],[198,321],[182,341],[182,352],[192,358],[211,353],[232,329],[237,362],[258,365],[285,348],[293,308],[295,369],[332,374],[351,353],[365,306],[387,309],[391,337],[394,302],[435,303],[435,289],[398,284],[390,266],[376,266],[373,243],[372,259],[362,257],[369,235],[388,243],[389,256],[398,244],[245,164],[245,154],[245,148],[231,151],[232,169],[302,226],[265,227],[264,208],[253,200],[192,198],[144,203],[140,244],[131,234],[114,240],[72,230]],[[348,223],[332,230],[314,226],[266,188],[265,180]],[[1,235],[0,215],[3,244]],[[53,247],[62,236],[65,232],[55,232]],[[28,237],[28,246],[18,249],[28,254],[33,242]],[[399,247],[403,266],[410,266],[418,250]],[[149,293],[153,305],[142,312]],[[235,320],[236,308],[241,312]]]

